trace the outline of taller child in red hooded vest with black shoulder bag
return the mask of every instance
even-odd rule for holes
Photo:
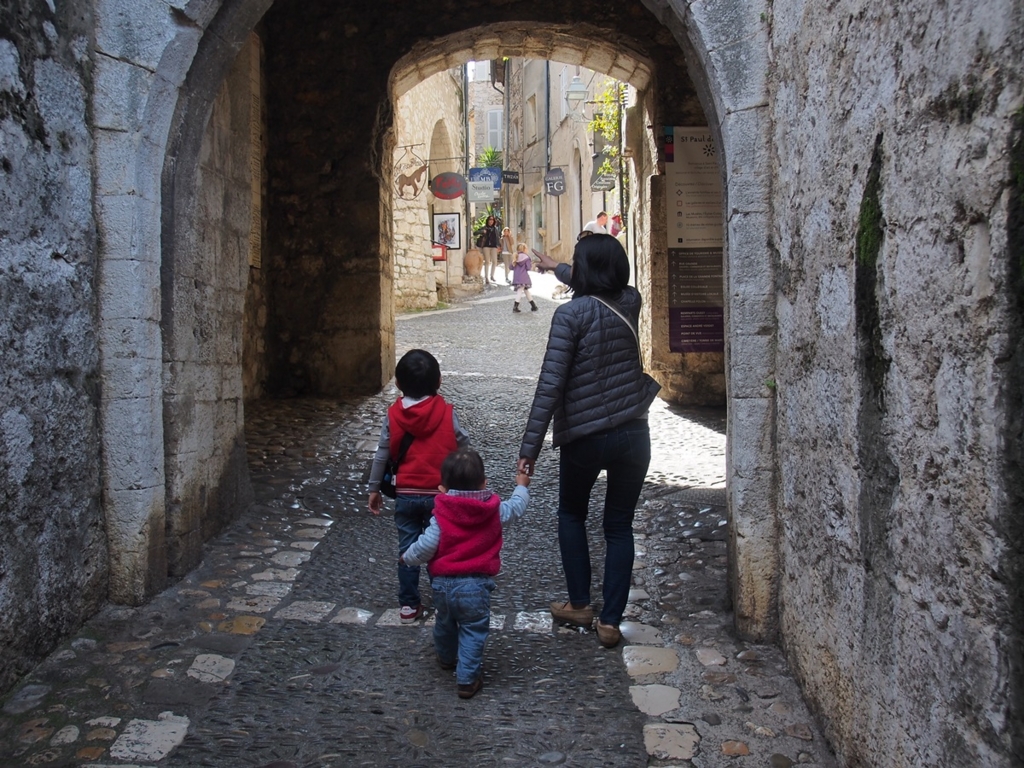
[[[404,456],[394,478],[394,524],[398,529],[398,553],[427,528],[434,498],[441,481],[444,457],[469,444],[469,433],[459,425],[451,403],[437,394],[441,370],[436,358],[423,349],[411,349],[394,370],[401,396],[388,408],[381,438],[370,468],[370,511],[381,512],[381,479],[388,457]],[[420,568],[398,560],[398,618],[412,624],[423,615],[420,600]]]

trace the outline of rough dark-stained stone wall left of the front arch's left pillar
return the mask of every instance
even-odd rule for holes
[[[87,2],[0,6],[0,691],[106,594]]]

